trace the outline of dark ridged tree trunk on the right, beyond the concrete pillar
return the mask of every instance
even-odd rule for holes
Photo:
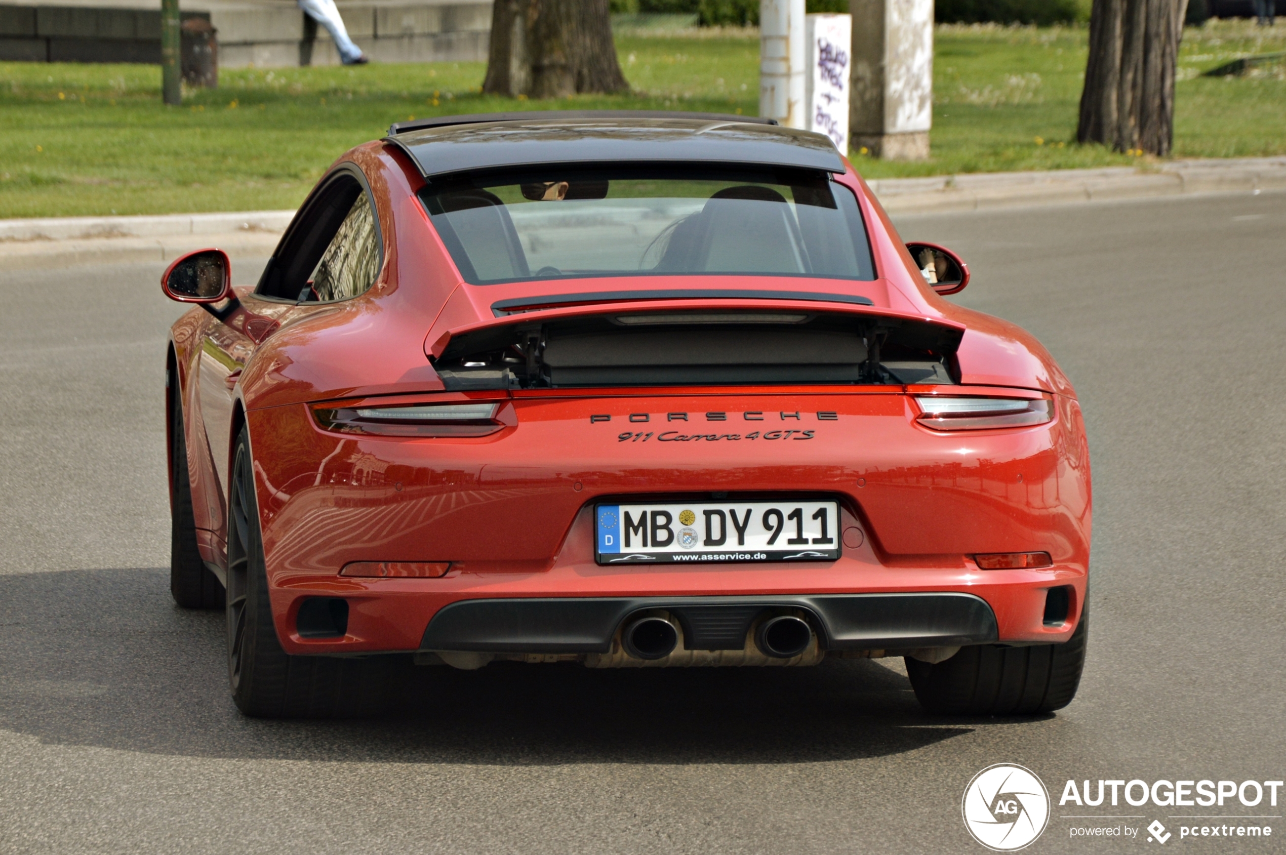
[[[1076,139],[1170,153],[1174,69],[1188,0],[1094,0]]]

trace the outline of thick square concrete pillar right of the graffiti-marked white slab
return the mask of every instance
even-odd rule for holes
[[[934,0],[849,0],[850,145],[891,161],[928,157],[934,117]]]

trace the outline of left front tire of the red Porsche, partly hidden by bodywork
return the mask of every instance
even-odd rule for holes
[[[224,586],[210,572],[197,549],[197,519],[192,513],[192,481],[184,438],[183,404],[177,373],[170,386],[170,595],[183,608],[222,608]]]

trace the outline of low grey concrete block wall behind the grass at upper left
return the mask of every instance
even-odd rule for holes
[[[0,60],[161,62],[161,12],[139,0],[0,1]],[[376,62],[484,62],[490,0],[340,0],[349,35]],[[219,64],[331,66],[340,57],[325,30],[292,0],[185,0],[183,15],[219,31]]]

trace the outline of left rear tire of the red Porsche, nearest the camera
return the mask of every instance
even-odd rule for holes
[[[237,437],[228,499],[228,679],[233,702],[262,719],[374,715],[387,705],[385,657],[289,656],[267,594],[249,437]]]

